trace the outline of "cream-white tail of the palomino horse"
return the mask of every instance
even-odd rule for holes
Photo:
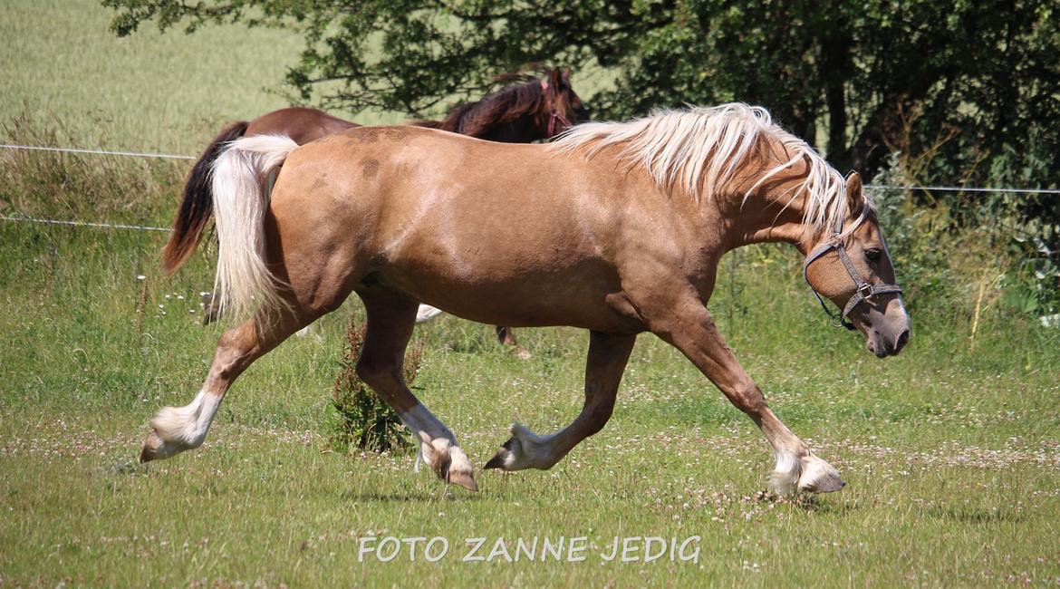
[[[214,297],[220,309],[244,317],[254,306],[284,306],[280,281],[265,264],[265,211],[269,175],[298,147],[289,137],[259,135],[232,142],[213,164],[213,211],[217,227]]]

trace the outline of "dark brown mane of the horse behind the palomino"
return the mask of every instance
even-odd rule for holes
[[[497,81],[519,84],[457,106],[442,121],[418,121],[416,125],[475,137],[498,123],[509,123],[527,113],[543,112],[545,91],[541,79],[530,74],[507,73],[497,76]]]

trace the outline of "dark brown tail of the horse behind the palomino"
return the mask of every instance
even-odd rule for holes
[[[162,248],[162,268],[166,273],[172,274],[179,270],[195,253],[195,246],[202,238],[207,222],[213,214],[210,167],[220,155],[225,144],[235,141],[247,132],[248,124],[246,121],[238,121],[222,129],[188,175],[184,198],[180,202],[180,210],[177,211],[177,218],[173,221],[173,232]]]

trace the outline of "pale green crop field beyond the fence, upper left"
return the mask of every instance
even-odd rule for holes
[[[283,75],[303,47],[294,31],[242,26],[118,38],[93,0],[7,0],[0,14],[0,122],[30,112],[78,147],[198,154],[223,123],[288,106]]]

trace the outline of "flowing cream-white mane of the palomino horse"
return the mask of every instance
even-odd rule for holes
[[[630,165],[642,165],[660,188],[685,190],[693,198],[710,198],[724,190],[748,158],[773,153],[787,161],[770,169],[748,189],[744,200],[766,180],[805,161],[806,177],[781,198],[806,192],[803,220],[814,230],[832,227],[846,215],[846,181],[801,139],[773,122],[762,107],[741,103],[660,110],[628,123],[586,123],[568,129],[549,148],[582,148],[594,157],[606,147]]]

